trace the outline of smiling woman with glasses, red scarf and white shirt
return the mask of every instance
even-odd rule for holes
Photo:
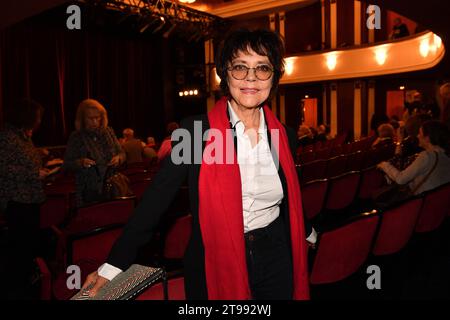
[[[216,62],[224,97],[172,135],[171,156],[106,263],[86,280],[84,288],[94,285],[89,295],[133,263],[187,176],[187,298],[309,298],[311,228],[305,230],[293,161],[296,135],[267,106],[284,72],[283,54],[282,39],[270,31],[238,30],[225,39]]]

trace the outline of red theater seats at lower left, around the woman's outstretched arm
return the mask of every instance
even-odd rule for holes
[[[112,244],[122,233],[124,225],[139,203],[142,193],[151,183],[155,171],[154,168],[142,164],[128,166],[122,173],[130,179],[134,196],[76,209],[73,206],[73,181],[61,179],[48,186],[47,201],[41,209],[41,228],[51,229],[57,240],[54,253],[37,259],[42,273],[42,299],[65,300],[75,294],[76,290],[70,290],[66,285],[68,266],[79,266],[84,281],[90,272],[105,261]],[[191,229],[186,186],[180,188],[167,211],[152,243],[140,252],[144,257],[150,257],[150,261],[155,258],[156,263],[177,260],[184,254],[184,245],[189,239],[186,234]],[[185,239],[184,242],[180,242],[180,238]],[[169,286],[172,286],[171,280]]]

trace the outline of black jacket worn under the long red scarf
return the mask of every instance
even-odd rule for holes
[[[200,133],[197,133],[197,136],[195,136],[194,121],[201,121],[201,136],[199,135]],[[181,128],[187,129],[191,134],[191,137],[203,137],[203,133],[209,129],[208,117],[207,115],[201,115],[185,119],[181,122]],[[270,143],[270,130],[267,132]],[[286,130],[286,132],[288,133],[291,151],[294,154],[296,149],[295,132],[289,129]],[[202,150],[204,147],[205,142],[203,141]],[[194,146],[192,146],[191,150],[191,163],[194,163],[193,158]],[[153,183],[145,191],[142,201],[125,227],[123,235],[115,243],[107,259],[107,263],[122,270],[127,269],[133,263],[138,248],[150,240],[152,231],[157,226],[161,215],[167,210],[179,187],[187,177],[193,220],[192,235],[184,257],[186,297],[188,299],[208,298],[205,280],[204,247],[198,215],[198,182],[200,166],[200,164],[175,165],[172,162],[171,157],[167,157],[164,160],[163,166],[155,176]],[[280,206],[280,216],[284,218],[286,232],[289,233],[289,228],[287,227],[289,226],[289,222],[287,221],[289,214],[287,209],[286,179],[281,166],[279,167],[278,172],[280,174],[283,190],[285,191],[285,196]],[[305,234],[309,235],[310,233],[311,226],[305,222]]]

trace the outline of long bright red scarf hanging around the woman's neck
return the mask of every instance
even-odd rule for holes
[[[307,246],[297,172],[283,125],[267,106],[263,108],[268,130],[279,130],[279,150],[276,151],[286,176],[288,190],[294,273],[293,297],[296,300],[306,300],[309,299]],[[231,130],[227,131],[230,129],[230,123],[227,117],[227,100],[225,98],[218,101],[214,109],[208,113],[208,120],[211,129],[216,129],[216,133],[219,131],[222,133],[223,142],[233,142]],[[210,131],[208,140],[211,140],[212,135],[214,133]],[[233,152],[234,161],[232,164],[226,164],[226,143],[222,143],[223,148],[215,150],[216,156],[222,153],[223,164],[207,164],[205,159],[213,149],[213,142],[214,140],[206,143],[199,178],[199,219],[205,248],[208,298],[211,300],[250,299],[245,256],[241,177],[237,155],[234,147],[232,146],[230,149],[228,146],[228,149]],[[272,143],[272,145],[274,144]]]

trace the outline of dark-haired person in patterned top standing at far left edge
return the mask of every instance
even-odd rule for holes
[[[42,106],[22,99],[11,106],[0,132],[0,211],[8,226],[6,264],[1,274],[1,296],[7,299],[36,298],[32,291],[34,258],[39,249],[40,207],[45,201],[41,153],[31,140],[38,129]]]

